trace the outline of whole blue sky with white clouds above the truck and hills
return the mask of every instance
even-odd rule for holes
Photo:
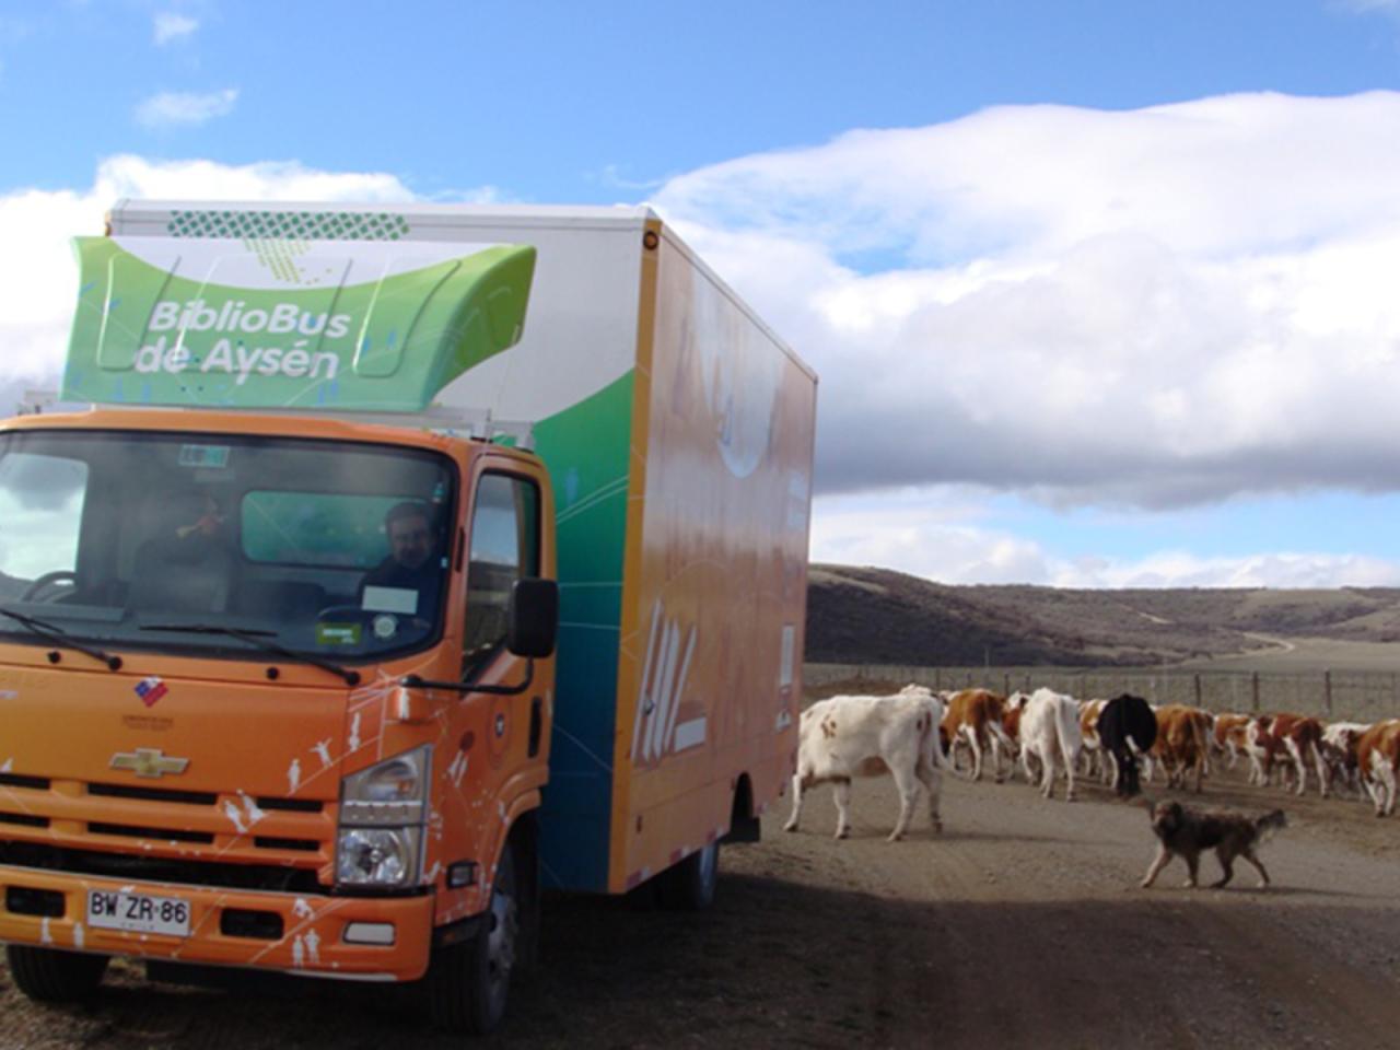
[[[1400,585],[1400,0],[0,0],[0,398],[120,197],[651,204],[820,377],[812,559]]]

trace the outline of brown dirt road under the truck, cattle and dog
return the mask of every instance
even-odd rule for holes
[[[945,778],[945,833],[921,813],[896,844],[888,780],[857,783],[841,843],[826,790],[795,834],[783,801],[762,844],[725,850],[708,916],[552,900],[543,973],[482,1046],[1400,1046],[1400,820],[1222,776],[1205,798],[1288,811],[1271,889],[1247,865],[1226,890],[1179,889],[1179,861],[1137,889],[1147,818],[1096,787],[1067,805]],[[95,1004],[41,1009],[3,969],[0,986],[6,1047],[456,1044],[361,987],[231,994],[123,966]]]

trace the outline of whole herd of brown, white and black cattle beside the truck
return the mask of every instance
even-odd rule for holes
[[[893,841],[909,830],[920,785],[928,792],[932,826],[941,829],[942,770],[980,780],[990,766],[1001,781],[1004,767],[1014,771],[1019,763],[1028,781],[1040,781],[1046,798],[1063,773],[1065,801],[1072,801],[1075,776],[1099,777],[1120,794],[1135,794],[1140,764],[1149,783],[1161,770],[1170,787],[1193,780],[1200,791],[1212,759],[1231,769],[1247,760],[1250,784],[1278,778],[1303,794],[1312,777],[1323,798],[1334,790],[1369,795],[1376,816],[1385,816],[1396,806],[1400,718],[1324,724],[1298,714],[1156,707],[1131,694],[1079,701],[1050,689],[1007,697],[987,689],[935,693],[911,685],[893,696],[833,696],[802,713],[785,830],[798,826],[802,792],[830,783],[836,836],[846,837],[854,777],[893,776],[900,797]]]

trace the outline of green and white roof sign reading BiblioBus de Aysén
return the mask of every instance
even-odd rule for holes
[[[535,249],[80,237],[63,400],[421,412],[514,346]]]

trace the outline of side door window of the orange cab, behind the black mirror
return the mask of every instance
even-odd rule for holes
[[[539,575],[538,486],[525,477],[482,475],[469,545],[463,676],[476,673],[504,644],[514,582]]]

